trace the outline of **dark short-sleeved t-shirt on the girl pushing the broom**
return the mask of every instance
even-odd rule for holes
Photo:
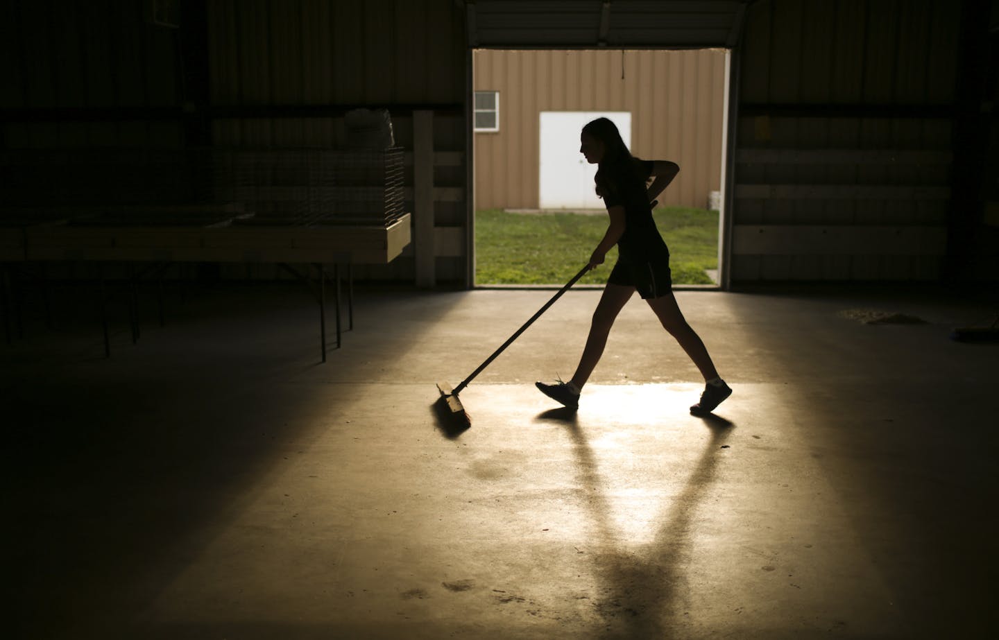
[[[632,158],[632,163],[607,167],[607,192],[603,204],[609,210],[624,207],[624,233],[617,241],[618,256],[622,260],[644,262],[651,259],[669,259],[669,249],[652,220],[645,182],[652,175],[652,161]]]

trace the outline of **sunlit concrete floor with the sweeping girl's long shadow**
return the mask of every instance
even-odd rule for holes
[[[948,338],[994,301],[679,292],[735,391],[701,419],[637,298],[578,412],[537,392],[578,357],[573,291],[442,423],[435,382],[550,295],[361,292],[326,364],[292,287],[170,294],[136,345],[113,309],[111,359],[84,300],[29,305],[4,637],[994,637],[999,345]],[[926,323],[837,315],[867,308]]]

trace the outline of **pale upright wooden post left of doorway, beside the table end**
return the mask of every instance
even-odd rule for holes
[[[434,112],[413,112],[413,252],[417,287],[434,287]]]

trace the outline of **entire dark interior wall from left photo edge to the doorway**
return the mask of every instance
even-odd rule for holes
[[[435,149],[463,154],[437,171],[452,197],[436,222],[466,223],[465,23],[454,0],[0,2],[8,158],[72,150],[63,176],[98,184],[96,169],[79,167],[108,148],[340,147],[357,107],[389,109],[397,145],[412,150],[413,113],[431,110]],[[153,7],[166,4],[159,24]],[[412,185],[412,160],[407,172]],[[464,279],[464,257],[438,262],[441,280]],[[412,250],[359,271],[412,279]]]

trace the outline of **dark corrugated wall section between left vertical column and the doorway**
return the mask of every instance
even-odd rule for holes
[[[467,272],[465,12],[454,0],[210,0],[211,102],[237,117],[213,123],[212,143],[342,146],[353,107],[389,109],[406,148],[413,211],[414,113],[433,112],[436,278]],[[260,110],[251,117],[249,109]],[[414,248],[359,278],[412,280]]]

